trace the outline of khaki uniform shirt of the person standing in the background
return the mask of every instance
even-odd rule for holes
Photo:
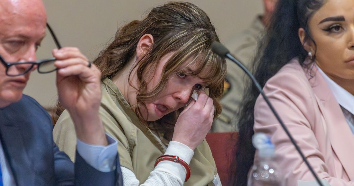
[[[234,36],[226,43],[228,49],[232,54],[243,63],[248,69],[251,69],[251,62],[258,50],[258,39],[262,36],[264,26],[261,18],[258,16],[251,27],[244,30],[239,35]],[[221,115],[213,122],[211,132],[234,132],[238,131],[236,128],[239,106],[242,101],[245,83],[248,77],[246,73],[237,66],[234,62],[227,60],[227,74],[224,81],[224,95],[220,102],[222,104]],[[247,78],[247,79],[246,79]]]

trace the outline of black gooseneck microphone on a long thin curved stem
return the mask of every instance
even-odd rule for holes
[[[219,43],[217,41],[214,41],[213,44],[211,45],[211,50],[214,53],[216,53],[217,55],[219,55],[220,57],[226,57],[226,58],[229,58],[229,60],[235,62],[251,78],[253,83],[256,85],[258,91],[261,92],[261,95],[264,98],[265,102],[267,102],[267,105],[269,106],[270,110],[272,110],[273,114],[275,115],[276,119],[280,123],[281,127],[284,129],[286,135],[289,137],[291,143],[295,146],[296,151],[300,154],[301,158],[304,160],[305,164],[307,165],[307,167],[311,171],[312,175],[315,177],[315,179],[318,182],[318,184],[320,186],[324,186],[322,184],[322,182],[320,181],[319,177],[316,175],[316,173],[313,170],[313,168],[311,167],[310,163],[307,161],[306,157],[304,156],[304,154],[300,150],[300,147],[296,144],[296,142],[293,139],[293,137],[291,136],[289,130],[286,128],[286,126],[284,125],[283,121],[280,119],[279,114],[275,111],[272,103],[270,103],[268,97],[265,96],[265,94],[264,94],[264,92],[262,90],[262,87],[261,87],[261,85],[259,85],[259,83],[257,82],[256,78],[251,74],[251,72],[249,70],[247,70],[247,68],[241,62],[236,60],[236,58],[230,54],[229,50],[224,45],[222,45],[221,43]]]

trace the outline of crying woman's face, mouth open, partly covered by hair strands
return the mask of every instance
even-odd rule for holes
[[[148,83],[147,88],[149,90],[153,89],[159,83],[162,69],[172,55],[173,52],[170,52],[161,58],[152,80]],[[189,70],[193,71],[194,69],[190,67]],[[147,121],[156,121],[162,118],[162,116],[183,107],[190,101],[194,90],[203,90],[206,86],[207,84],[198,77],[178,72],[172,74],[167,80],[166,89],[153,101],[145,102],[148,112]],[[142,109],[142,112],[143,115],[146,115],[144,109]]]

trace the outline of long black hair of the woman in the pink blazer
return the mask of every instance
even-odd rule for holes
[[[308,19],[325,3],[325,0],[279,0],[270,20],[267,33],[259,41],[258,55],[253,60],[254,75],[259,84],[265,83],[292,58],[298,57],[302,66],[307,56],[298,37],[299,28],[306,32],[305,41],[312,40]],[[315,42],[314,42],[315,44]],[[316,52],[314,52],[314,55]],[[315,57],[314,57],[315,58]],[[314,59],[313,58],[313,59]],[[249,82],[244,92],[238,122],[239,137],[235,159],[234,185],[247,185],[247,173],[253,164],[255,148],[251,139],[254,134],[254,106],[259,91]]]

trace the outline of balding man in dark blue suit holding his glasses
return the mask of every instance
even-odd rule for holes
[[[117,141],[98,116],[101,73],[78,49],[52,52],[78,136],[75,164],[53,142],[50,116],[22,94],[30,72],[45,68],[33,62],[45,30],[41,0],[0,0],[0,185],[122,185]]]

